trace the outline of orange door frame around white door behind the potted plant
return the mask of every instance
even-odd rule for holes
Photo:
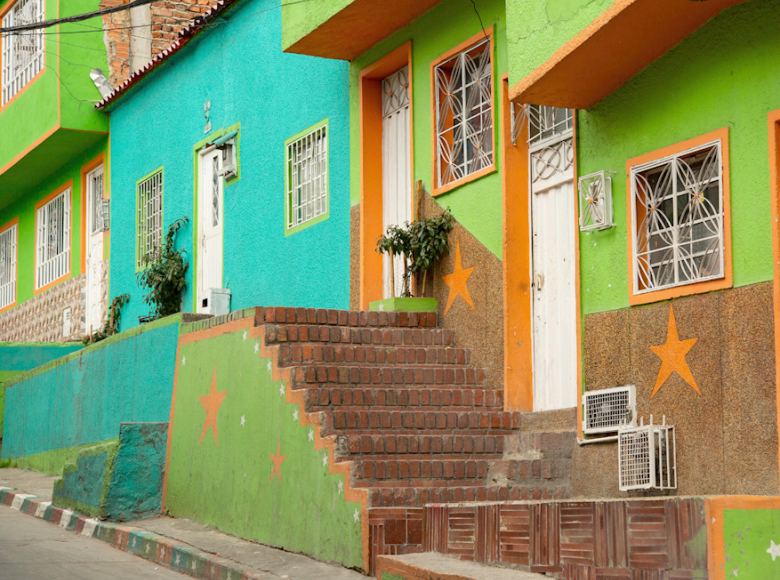
[[[382,216],[382,79],[409,67],[409,183],[414,182],[412,123],[412,43],[360,71],[360,309],[383,298],[382,256],[376,241],[384,230]],[[410,191],[414,191],[410,187]]]

